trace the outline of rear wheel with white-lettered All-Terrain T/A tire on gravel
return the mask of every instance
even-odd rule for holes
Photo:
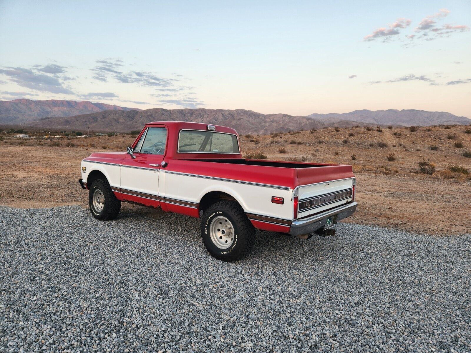
[[[255,242],[255,228],[235,201],[219,201],[206,209],[201,235],[211,256],[227,262],[244,258]]]

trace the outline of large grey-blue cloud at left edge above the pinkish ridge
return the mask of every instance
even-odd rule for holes
[[[0,74],[8,77],[8,80],[21,87],[26,87],[42,92],[73,94],[73,92],[64,86],[64,80],[57,75],[46,73],[37,73],[32,69],[24,67],[6,66],[0,69]]]

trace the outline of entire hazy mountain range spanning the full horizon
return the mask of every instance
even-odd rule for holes
[[[0,123],[43,128],[86,129],[93,131],[128,132],[142,128],[147,122],[159,120],[195,121],[225,125],[241,134],[268,134],[274,131],[296,131],[323,127],[355,125],[436,125],[469,124],[470,119],[448,112],[421,110],[358,110],[349,113],[261,114],[236,109],[132,109],[103,103],[75,101],[32,101],[16,99],[0,101]]]

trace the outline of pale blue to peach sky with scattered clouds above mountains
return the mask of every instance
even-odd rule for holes
[[[471,118],[471,1],[0,0],[0,100]]]

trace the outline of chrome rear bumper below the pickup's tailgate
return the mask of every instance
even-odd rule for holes
[[[303,235],[313,233],[323,227],[329,217],[333,217],[333,222],[337,223],[341,219],[353,215],[353,212],[357,209],[357,205],[357,202],[351,202],[348,205],[325,211],[309,218],[297,219],[291,224],[290,234]]]

